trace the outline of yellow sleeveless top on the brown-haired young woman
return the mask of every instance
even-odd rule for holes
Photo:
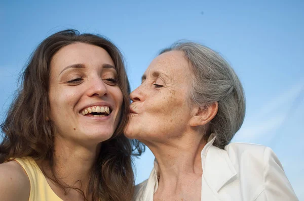
[[[31,157],[16,158],[30,182],[28,201],[63,201],[50,187],[46,177]]]

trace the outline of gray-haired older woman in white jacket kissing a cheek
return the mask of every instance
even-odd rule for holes
[[[130,97],[125,133],[156,157],[135,200],[297,200],[269,147],[229,144],[243,123],[245,97],[234,70],[208,47],[165,49]]]

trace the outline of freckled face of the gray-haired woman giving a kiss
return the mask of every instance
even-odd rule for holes
[[[143,142],[178,137],[189,126],[191,72],[182,52],[171,51],[154,59],[131,94],[129,138]]]

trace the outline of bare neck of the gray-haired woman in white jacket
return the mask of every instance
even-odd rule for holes
[[[190,175],[202,175],[201,151],[206,145],[203,135],[183,133],[181,138],[168,139],[166,143],[147,143],[159,165],[159,185],[174,186],[183,183]],[[172,185],[173,184],[173,185]]]

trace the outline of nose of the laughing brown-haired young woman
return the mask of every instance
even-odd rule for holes
[[[92,78],[89,84],[88,96],[104,96],[107,94],[107,85],[100,77]]]

